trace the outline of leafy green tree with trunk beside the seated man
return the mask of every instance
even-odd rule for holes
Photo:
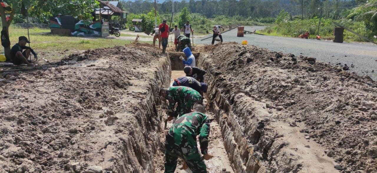
[[[69,3],[62,0],[8,0],[8,5],[12,6],[13,11],[10,14],[10,20],[6,21],[6,16],[1,15],[3,29],[9,35],[9,26],[16,12],[21,8],[27,8],[29,14],[40,18],[50,17],[53,14],[69,14],[77,16],[79,19],[90,19],[93,9],[97,8],[97,0],[70,0]],[[24,10],[22,10],[24,11]],[[0,5],[0,14],[5,14],[5,8]],[[10,58],[10,47],[4,48],[5,56]]]

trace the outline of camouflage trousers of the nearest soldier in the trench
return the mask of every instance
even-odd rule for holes
[[[174,137],[169,134],[166,135],[165,173],[174,173],[178,157],[186,162],[193,173],[207,173],[207,167],[198,152],[196,140],[193,141],[190,136],[184,137],[181,145],[177,146],[174,144]]]

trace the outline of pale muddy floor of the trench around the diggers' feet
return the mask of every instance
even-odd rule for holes
[[[174,79],[178,77],[182,77],[182,76],[185,76],[183,71],[172,71],[170,85],[173,84]],[[206,103],[206,100],[204,102]],[[205,165],[207,165],[207,171],[208,173],[219,173],[219,172],[233,173],[231,164],[228,159],[227,152],[225,151],[225,148],[224,148],[224,143],[221,136],[221,129],[220,129],[219,124],[215,120],[215,115],[210,112],[207,112],[206,114],[211,120],[213,119],[213,121],[211,122],[210,143],[208,145],[208,152],[211,155],[213,155],[213,158],[208,161],[205,161]],[[167,129],[161,132],[160,137],[165,138],[165,135],[169,131],[169,128],[171,126],[172,126],[172,122],[168,122]],[[164,139],[161,140],[161,142],[164,142],[164,141],[165,141]],[[198,150],[200,150],[199,141],[198,141]],[[161,159],[164,160],[165,158],[161,158]],[[190,169],[180,170],[182,166],[183,166],[182,160],[178,159],[178,165],[175,172],[176,173],[192,173]],[[164,172],[164,169],[162,168],[161,170],[157,172]]]

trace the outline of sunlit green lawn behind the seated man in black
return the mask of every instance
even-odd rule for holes
[[[59,36],[50,34],[50,29],[31,28],[30,47],[41,55],[41,58],[60,59],[66,54],[77,51],[87,50],[89,48],[114,47],[127,45],[132,40],[121,40],[113,37],[76,37],[76,36]],[[11,47],[18,42],[19,36],[28,36],[28,30],[20,27],[11,26],[9,28],[9,39]],[[135,36],[136,37],[136,36]],[[152,42],[148,42],[152,43]]]

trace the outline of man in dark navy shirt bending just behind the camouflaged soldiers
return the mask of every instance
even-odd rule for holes
[[[206,83],[199,83],[195,78],[193,77],[180,77],[178,79],[175,79],[173,82],[173,86],[186,86],[190,87],[197,92],[200,93],[200,95],[203,96],[203,93],[207,92],[207,84]]]

